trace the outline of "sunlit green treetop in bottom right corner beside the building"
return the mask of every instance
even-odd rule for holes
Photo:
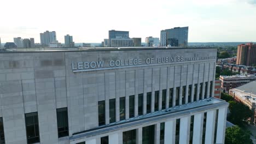
[[[226,128],[225,144],[253,144],[250,132],[244,131],[237,125]]]

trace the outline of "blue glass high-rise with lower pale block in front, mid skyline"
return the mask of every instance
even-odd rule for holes
[[[108,31],[108,42],[110,47],[133,46],[133,40],[129,38],[129,31]]]

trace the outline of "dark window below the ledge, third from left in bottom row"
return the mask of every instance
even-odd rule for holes
[[[142,144],[155,143],[155,125],[142,128]]]

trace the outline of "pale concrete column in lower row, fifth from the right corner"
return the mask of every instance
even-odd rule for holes
[[[175,143],[176,121],[165,122],[165,143]]]

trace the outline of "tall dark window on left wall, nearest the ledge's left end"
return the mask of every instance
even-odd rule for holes
[[[68,113],[67,107],[57,109],[58,136],[68,136]]]

